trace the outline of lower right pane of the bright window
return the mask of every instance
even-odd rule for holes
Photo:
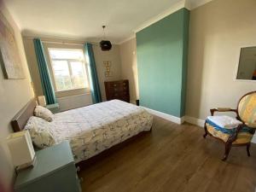
[[[84,63],[80,61],[71,61],[73,89],[87,87]]]

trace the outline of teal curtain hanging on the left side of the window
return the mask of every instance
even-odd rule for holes
[[[44,47],[42,44],[42,41],[39,38],[34,38],[34,47],[38,59],[38,69],[40,73],[40,78],[42,82],[42,88],[44,91],[44,96],[46,103],[49,104],[55,104],[55,91],[53,89],[50,77],[49,77],[49,69],[47,66],[47,62],[44,55]]]

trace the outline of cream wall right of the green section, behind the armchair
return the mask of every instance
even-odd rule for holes
[[[242,46],[256,45],[256,1],[214,0],[190,12],[186,114],[205,119],[210,108],[236,108],[255,82],[235,80]]]

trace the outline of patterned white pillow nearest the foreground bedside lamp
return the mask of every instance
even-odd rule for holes
[[[55,144],[55,138],[52,131],[54,126],[53,123],[32,116],[28,119],[24,129],[29,131],[32,142],[38,148],[47,148]]]

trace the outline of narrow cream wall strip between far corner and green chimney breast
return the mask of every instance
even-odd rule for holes
[[[129,80],[130,100],[135,103],[139,98],[136,38],[131,38],[125,43],[120,44],[119,47],[122,65],[122,79]]]

